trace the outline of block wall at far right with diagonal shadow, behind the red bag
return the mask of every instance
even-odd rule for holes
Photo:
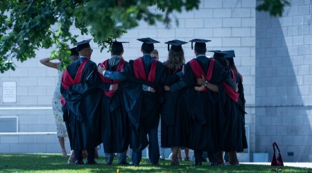
[[[311,162],[311,1],[292,0],[282,17],[256,12],[255,150]],[[293,156],[291,156],[293,154]]]

